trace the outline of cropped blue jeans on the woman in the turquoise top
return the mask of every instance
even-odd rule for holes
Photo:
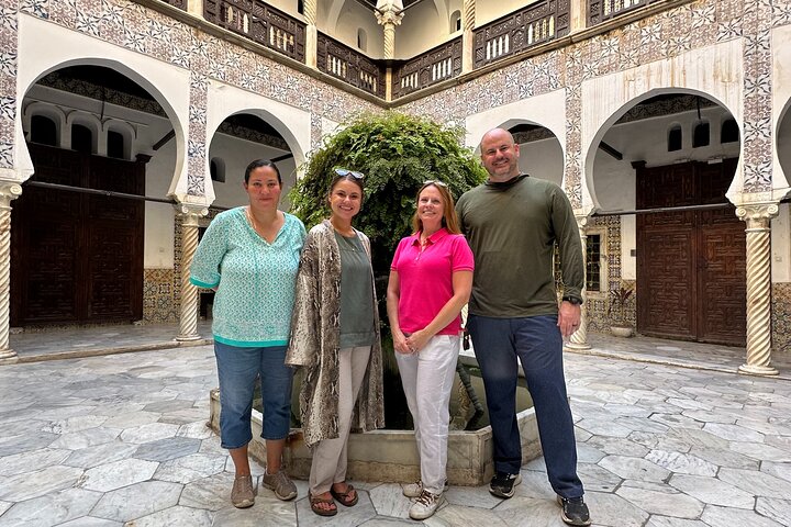
[[[214,341],[220,379],[220,440],[227,449],[253,439],[253,391],[260,375],[264,439],[283,439],[291,425],[293,370],[285,365],[286,346],[243,348]]]

